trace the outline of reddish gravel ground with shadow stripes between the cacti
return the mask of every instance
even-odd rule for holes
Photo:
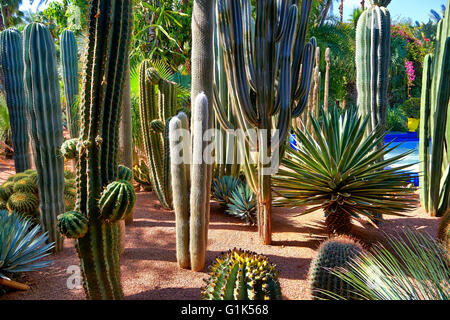
[[[12,173],[0,162],[0,183]],[[265,246],[259,243],[255,227],[227,216],[221,206],[213,202],[206,266],[216,256],[234,247],[255,251],[277,265],[284,299],[309,299],[306,278],[315,249],[324,237],[323,214],[315,212],[296,217],[299,212],[301,209],[275,208],[273,245]],[[163,210],[153,193],[139,192],[134,217],[134,223],[126,228],[125,251],[121,257],[125,299],[200,299],[207,268],[199,273],[178,268],[173,212]],[[439,218],[430,217],[420,208],[408,213],[407,217],[387,219],[381,227],[387,233],[409,227],[435,236],[439,223]],[[365,237],[380,234],[375,228],[366,227],[369,231]],[[69,290],[67,287],[71,275],[67,269],[78,265],[74,242],[66,240],[64,251],[55,254],[53,259],[51,267],[23,277],[22,280],[31,286],[29,291],[9,293],[0,299],[84,299],[82,289]]]

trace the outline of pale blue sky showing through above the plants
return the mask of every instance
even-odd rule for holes
[[[50,0],[49,2],[58,1],[58,0]],[[29,3],[29,0],[23,0],[21,9],[28,10],[32,9],[36,11],[37,3],[32,6]],[[38,2],[38,0],[35,0]],[[346,19],[349,19],[353,9],[360,7],[361,0],[344,0],[344,15]],[[368,0],[366,0],[368,3]],[[441,5],[446,5],[447,0],[392,0],[391,4],[388,6],[389,11],[391,12],[392,18],[394,21],[404,18],[411,18],[412,21],[419,22],[428,22],[429,12],[431,9],[436,10],[440,13]],[[47,7],[47,5],[41,5],[40,10],[43,10]],[[334,3],[334,14],[338,14],[338,3],[335,1]]]

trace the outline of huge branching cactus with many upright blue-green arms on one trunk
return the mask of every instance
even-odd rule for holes
[[[219,38],[237,125],[228,121],[223,101],[217,103],[216,116],[224,129],[248,134],[239,142],[245,159],[242,167],[257,196],[258,231],[265,244],[272,242],[271,174],[282,150],[278,147],[284,146],[292,119],[306,106],[314,65],[314,40],[306,41],[312,1],[303,0],[301,9],[298,3],[258,0],[253,20],[250,0],[217,1]],[[257,150],[256,164],[250,161],[249,150]]]

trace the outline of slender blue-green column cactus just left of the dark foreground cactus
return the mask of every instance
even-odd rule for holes
[[[62,78],[66,98],[66,118],[72,138],[79,135],[79,115],[74,108],[78,96],[78,51],[77,40],[70,30],[64,30],[60,36]]]

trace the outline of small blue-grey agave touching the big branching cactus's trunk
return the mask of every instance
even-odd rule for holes
[[[229,200],[226,213],[256,225],[256,197],[247,184],[238,184]]]

